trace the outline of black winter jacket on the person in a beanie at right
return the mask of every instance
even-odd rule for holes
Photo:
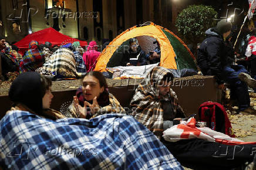
[[[215,28],[206,30],[206,36],[197,50],[197,64],[204,75],[215,76],[217,83],[223,84],[221,70],[228,64],[227,47]]]

